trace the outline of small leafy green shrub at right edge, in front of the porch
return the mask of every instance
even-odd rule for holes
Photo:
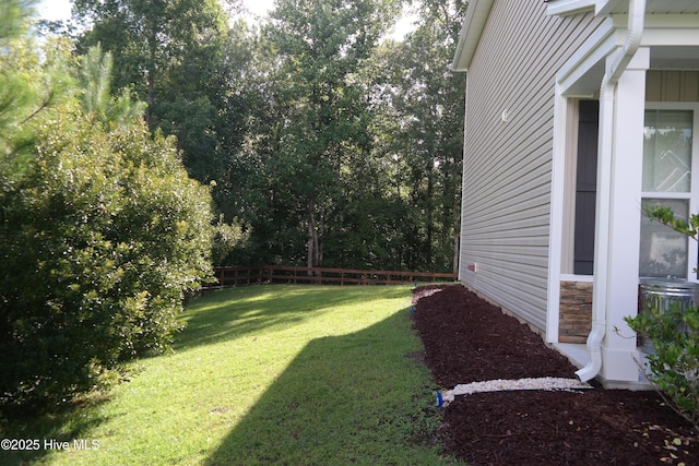
[[[649,379],[666,401],[695,427],[699,427],[699,308],[647,312],[626,318],[639,335],[650,338],[655,353],[648,355]]]

